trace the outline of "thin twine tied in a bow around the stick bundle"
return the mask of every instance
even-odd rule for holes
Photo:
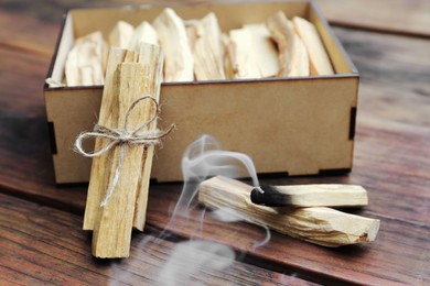
[[[147,100],[147,99],[151,100],[151,102],[155,107],[155,112],[153,112],[153,116],[149,120],[141,123],[137,129],[135,129],[131,132],[128,131],[127,127],[128,127],[129,118],[130,118],[132,110],[136,108],[136,106],[139,102]],[[137,100],[135,100],[131,103],[131,106],[128,108],[128,110],[126,112],[126,119],[123,122],[123,127],[121,129],[110,129],[110,128],[106,128],[106,127],[101,127],[99,124],[96,124],[94,127],[93,131],[83,132],[76,138],[75,151],[85,157],[98,157],[98,156],[106,154],[115,146],[120,147],[119,148],[118,165],[115,169],[112,182],[109,185],[109,188],[106,193],[106,197],[101,201],[100,207],[107,206],[107,204],[109,202],[109,200],[114,194],[115,187],[118,184],[123,158],[126,155],[126,145],[135,145],[135,144],[146,145],[146,146],[159,145],[159,144],[161,144],[161,139],[169,135],[170,132],[172,132],[173,129],[175,128],[175,125],[172,124],[172,125],[170,125],[170,128],[166,131],[162,131],[159,129],[144,130],[146,128],[148,128],[152,122],[154,122],[158,119],[159,114],[160,114],[160,106],[157,102],[157,100],[151,96],[142,96],[142,97],[138,98]],[[106,139],[106,140],[109,140],[110,142],[108,144],[106,144],[106,146],[101,147],[98,151],[87,152],[83,147],[83,142],[87,139],[90,139],[90,138]]]

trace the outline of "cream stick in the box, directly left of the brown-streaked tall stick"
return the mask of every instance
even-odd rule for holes
[[[251,57],[256,62],[260,77],[275,77],[279,70],[278,51],[270,37],[270,32],[265,24],[248,24],[244,29],[249,30],[251,42]]]

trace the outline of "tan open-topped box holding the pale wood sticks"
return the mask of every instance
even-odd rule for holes
[[[212,134],[224,150],[248,154],[258,173],[310,175],[352,168],[358,73],[326,20],[312,1],[173,7],[183,19],[216,13],[223,31],[264,22],[282,10],[313,22],[336,72],[334,76],[162,84],[161,128],[178,130],[157,150],[152,177],[181,180],[181,157],[202,134]],[[71,10],[47,77],[62,80],[74,38],[100,30],[107,34],[118,20],[133,25],[152,21],[163,7]],[[90,160],[73,152],[82,131],[97,122],[103,86],[44,87],[52,134],[56,182],[88,182]],[[88,146],[90,148],[90,146]]]

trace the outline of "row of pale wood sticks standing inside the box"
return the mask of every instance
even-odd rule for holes
[[[75,41],[65,65],[66,86],[104,85],[107,51],[137,51],[146,42],[164,53],[164,81],[295,77],[334,74],[315,26],[291,21],[283,12],[264,23],[223,33],[214,13],[201,20],[181,19],[166,8],[151,23],[133,26],[119,21],[105,41],[97,31]]]

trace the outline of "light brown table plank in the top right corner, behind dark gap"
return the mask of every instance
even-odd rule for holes
[[[333,25],[430,36],[430,2],[426,0],[316,0]]]

